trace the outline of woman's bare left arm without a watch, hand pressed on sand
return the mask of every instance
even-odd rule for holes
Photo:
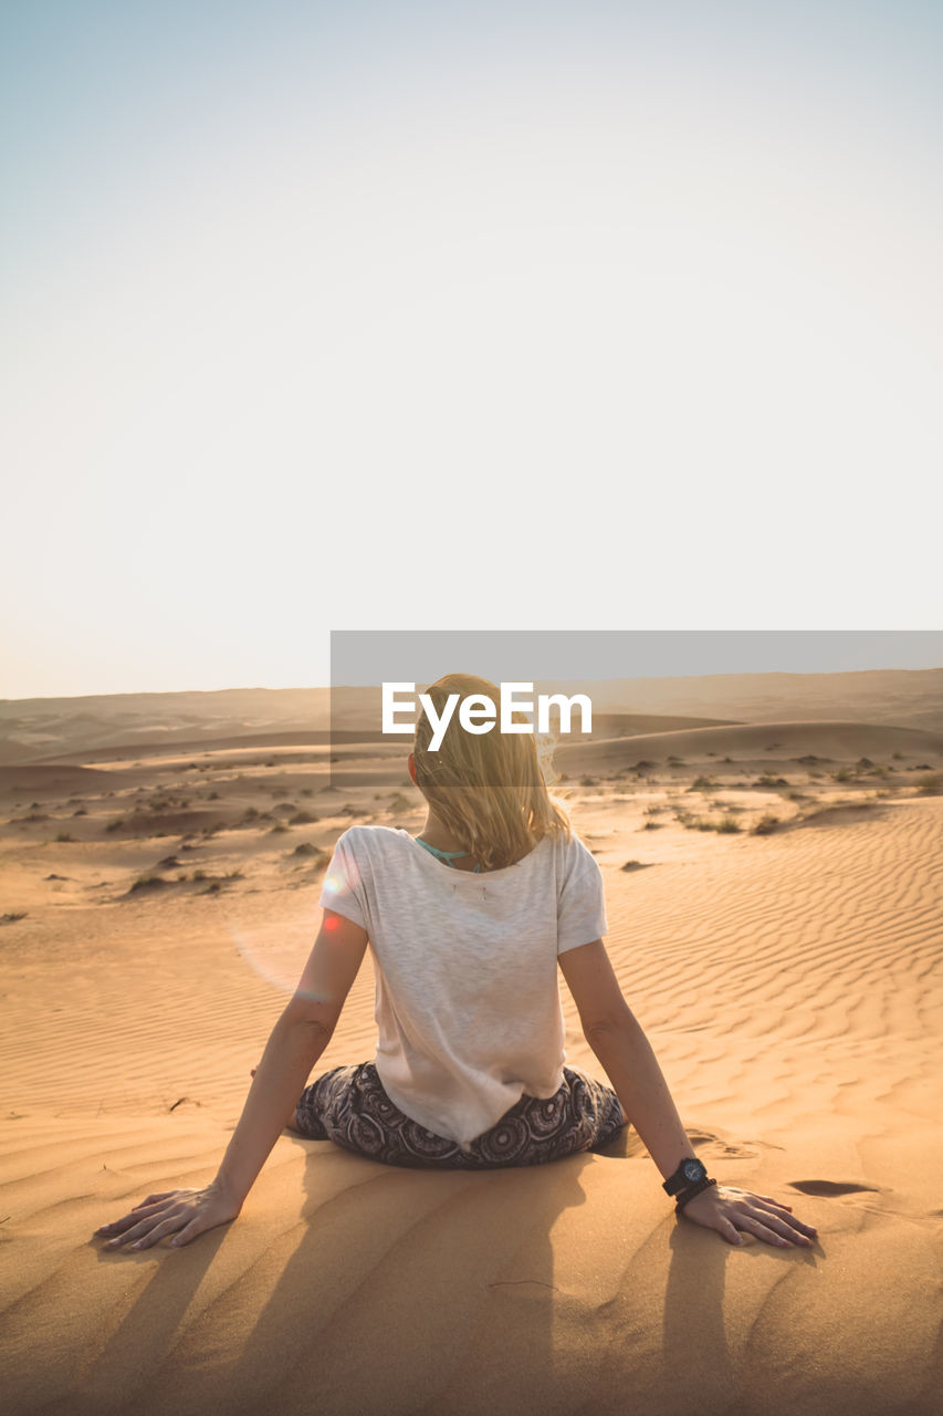
[[[272,1029],[215,1180],[202,1189],[149,1195],[122,1219],[102,1225],[98,1232],[112,1247],[147,1249],[171,1233],[177,1235],[174,1245],[184,1245],[236,1218],[330,1042],[365,949],[367,933],[360,925],[324,910],[302,980]]]

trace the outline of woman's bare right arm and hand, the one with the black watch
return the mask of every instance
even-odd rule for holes
[[[694,1147],[651,1044],[622,995],[602,939],[565,950],[558,961],[586,1041],[606,1069],[626,1116],[667,1180],[685,1157],[694,1155]],[[695,1195],[684,1206],[684,1214],[708,1229],[716,1229],[731,1243],[741,1243],[741,1229],[773,1245],[806,1245],[816,1233],[811,1225],[793,1218],[789,1205],[729,1185],[712,1185]]]

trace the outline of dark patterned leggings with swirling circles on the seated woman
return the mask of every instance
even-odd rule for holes
[[[626,1114],[610,1087],[565,1066],[559,1092],[545,1100],[522,1096],[463,1151],[457,1141],[404,1116],[372,1062],[337,1066],[306,1086],[293,1121],[309,1140],[330,1140],[387,1165],[443,1170],[542,1165],[576,1151],[602,1150],[624,1124]]]

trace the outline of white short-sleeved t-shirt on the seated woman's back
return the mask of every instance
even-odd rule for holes
[[[579,837],[545,835],[515,865],[476,874],[408,831],[353,826],[321,905],[370,937],[375,1065],[401,1112],[467,1146],[522,1093],[559,1089],[556,956],[606,932],[602,874]]]

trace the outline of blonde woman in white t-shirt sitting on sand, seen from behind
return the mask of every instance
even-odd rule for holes
[[[450,674],[429,690],[497,697]],[[391,1165],[537,1165],[607,1146],[631,1121],[675,1209],[741,1243],[807,1245],[816,1231],[767,1195],[718,1185],[694,1155],[648,1041],[602,943],[599,865],[551,800],[532,733],[470,733],[438,752],[425,714],[409,775],[428,804],[419,837],[354,826],[337,841],[323,923],[275,1024],[211,1184],[149,1195],[99,1233],[146,1249],[228,1223],[286,1123]],[[367,944],[377,971],[377,1058],[307,1078],[337,1027]],[[564,1066],[556,966],[615,1087]]]

